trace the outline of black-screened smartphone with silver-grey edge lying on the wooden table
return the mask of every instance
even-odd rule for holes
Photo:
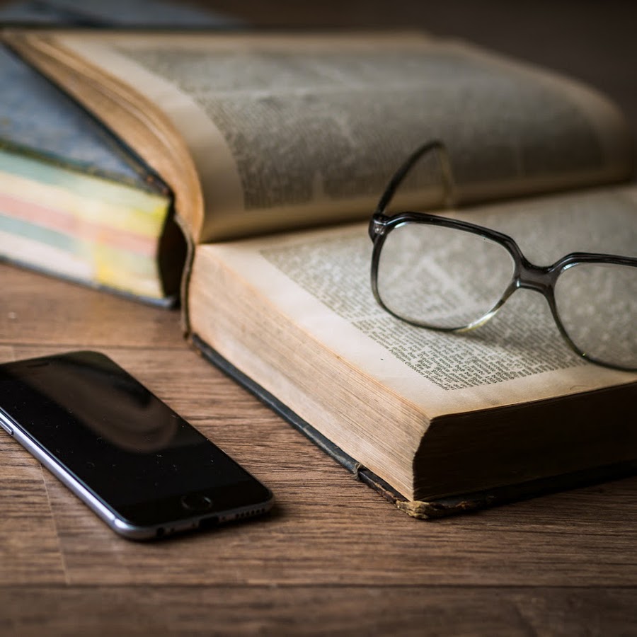
[[[0,426],[129,539],[272,507],[268,488],[98,352],[0,365]]]

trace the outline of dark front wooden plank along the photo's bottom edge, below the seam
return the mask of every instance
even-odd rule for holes
[[[3,634],[38,636],[422,636],[449,626],[454,636],[609,636],[634,634],[624,628],[637,622],[634,591],[596,587],[31,587],[0,589],[0,602],[14,609]]]

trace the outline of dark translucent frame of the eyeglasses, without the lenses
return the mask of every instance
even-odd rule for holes
[[[570,349],[573,350],[573,352],[597,365],[610,367],[612,369],[621,369],[624,371],[637,371],[637,367],[623,367],[621,365],[614,365],[612,363],[599,360],[596,357],[591,356],[590,354],[587,354],[587,352],[578,348],[578,345],[576,345],[570,338],[568,332],[566,331],[566,328],[563,326],[555,300],[555,286],[558,277],[562,274],[562,272],[565,272],[569,268],[585,263],[597,265],[627,265],[632,268],[637,268],[637,258],[604,253],[573,252],[558,259],[555,263],[553,263],[553,265],[535,265],[524,256],[515,240],[507,234],[503,234],[502,232],[492,230],[484,226],[478,226],[470,222],[461,221],[459,219],[449,219],[449,217],[441,217],[439,215],[430,214],[427,212],[397,212],[394,214],[386,214],[386,207],[393,199],[398,186],[401,185],[404,178],[407,176],[408,172],[415,165],[415,163],[417,163],[418,160],[420,160],[423,156],[425,156],[425,154],[428,154],[430,151],[436,151],[438,155],[445,189],[445,199],[448,206],[452,204],[454,198],[454,189],[451,179],[449,159],[442,142],[434,140],[432,142],[427,142],[427,144],[423,144],[423,146],[419,147],[407,159],[407,161],[403,163],[403,166],[401,166],[401,168],[396,171],[394,177],[390,180],[386,190],[381,195],[377,209],[374,211],[374,214],[372,214],[372,219],[369,222],[369,237],[370,239],[372,239],[372,242],[374,244],[374,248],[372,251],[371,269],[372,292],[379,305],[387,312],[389,312],[389,314],[391,314],[392,316],[396,316],[397,319],[401,319],[401,321],[405,321],[406,323],[411,323],[411,325],[440,332],[463,333],[474,328],[478,328],[479,326],[486,323],[489,319],[491,319],[495,315],[495,313],[505,304],[505,302],[513,294],[513,292],[515,292],[515,290],[533,289],[536,292],[540,292],[544,295],[544,298],[549,303],[551,314],[553,314],[553,319],[558,327],[559,332],[561,333],[563,339],[566,341]],[[413,319],[408,319],[404,316],[396,314],[396,312],[392,311],[388,306],[386,306],[383,299],[381,298],[378,289],[378,268],[380,263],[381,251],[391,231],[407,223],[427,224],[470,232],[471,234],[476,234],[478,236],[481,236],[483,239],[488,239],[490,241],[498,243],[500,246],[503,246],[503,248],[505,248],[505,250],[510,254],[513,260],[514,269],[509,285],[507,285],[502,296],[493,305],[493,307],[491,307],[478,319],[475,319],[474,321],[471,321],[471,323],[467,323],[466,325],[457,327],[441,327],[430,325],[429,323],[425,322],[414,321]]]

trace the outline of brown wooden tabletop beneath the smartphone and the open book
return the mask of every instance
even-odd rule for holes
[[[260,5],[245,6],[258,19]],[[616,54],[624,45],[602,31]],[[485,33],[498,45],[497,30]],[[520,42],[506,38],[515,52]],[[555,66],[575,61],[593,80],[611,59],[589,52],[586,65],[556,33],[550,41]],[[637,113],[634,59],[604,78]],[[77,348],[129,369],[268,484],[277,507],[259,521],[133,543],[0,431],[0,635],[637,634],[637,478],[412,520],[202,360],[177,312],[0,265],[0,360]]]

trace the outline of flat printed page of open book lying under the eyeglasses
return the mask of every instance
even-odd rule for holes
[[[454,216],[506,231],[536,265],[550,265],[570,251],[637,256],[635,188],[539,198]],[[637,379],[637,374],[593,365],[572,352],[544,297],[529,290],[515,292],[491,321],[469,333],[439,333],[394,318],[372,296],[367,226],[198,249],[202,263],[210,256],[220,260],[251,294],[263,295],[285,316],[284,332],[287,321],[299,326],[308,341],[421,406],[430,418]],[[198,276],[195,260],[193,306],[201,303]],[[209,280],[207,285],[215,284]],[[209,293],[216,296],[214,289]],[[205,338],[201,314],[195,311],[193,329]],[[223,338],[211,345],[228,354]],[[263,343],[255,351],[267,359],[268,348]],[[278,388],[269,389],[277,393]]]

